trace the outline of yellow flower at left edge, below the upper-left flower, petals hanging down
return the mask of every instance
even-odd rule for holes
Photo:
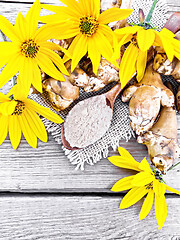
[[[23,133],[28,144],[36,148],[37,138],[47,142],[45,126],[37,113],[55,123],[62,123],[63,120],[49,108],[27,99],[23,95],[18,95],[16,86],[10,90],[8,95],[0,93],[0,144],[3,143],[9,132],[11,144],[16,149],[21,140],[21,133]],[[11,95],[13,92],[14,96]]]

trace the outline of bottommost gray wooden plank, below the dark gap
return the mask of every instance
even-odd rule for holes
[[[122,197],[46,196],[0,198],[2,240],[179,240],[179,199],[168,198],[158,230],[154,207],[139,221],[142,201],[120,210]]]

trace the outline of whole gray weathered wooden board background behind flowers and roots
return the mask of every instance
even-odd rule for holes
[[[58,0],[45,3],[60,4]],[[180,11],[179,0],[167,0],[170,13]],[[0,14],[15,22],[18,11],[26,13],[32,1],[0,0]],[[9,83],[3,91],[9,89]],[[180,139],[180,116],[178,116]],[[146,147],[134,139],[121,142],[134,158],[147,156]],[[117,152],[111,151],[109,155]],[[114,194],[112,185],[134,173],[102,159],[94,166],[76,171],[61,145],[49,136],[32,149],[24,139],[13,150],[7,137],[0,146],[0,239],[180,239],[180,198],[167,193],[168,217],[158,230],[154,209],[138,220],[142,201],[119,210],[124,193]],[[166,177],[168,185],[180,190],[180,168]]]

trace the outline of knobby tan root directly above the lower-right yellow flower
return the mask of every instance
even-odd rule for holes
[[[152,163],[166,174],[180,153],[176,110],[173,107],[163,107],[158,121],[149,131],[138,136],[137,142],[147,146]]]

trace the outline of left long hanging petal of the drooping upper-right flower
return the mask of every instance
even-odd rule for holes
[[[136,61],[139,54],[139,49],[132,43],[127,47],[120,64],[119,77],[121,87],[124,88],[129,80],[136,73]]]

